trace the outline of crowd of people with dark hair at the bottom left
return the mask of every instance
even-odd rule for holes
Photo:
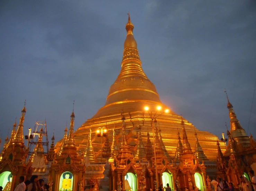
[[[30,180],[25,180],[25,177],[19,177],[19,184],[14,191],[49,191],[49,185],[44,183],[43,179],[38,180],[37,175],[32,175]],[[0,186],[0,191],[3,187]]]

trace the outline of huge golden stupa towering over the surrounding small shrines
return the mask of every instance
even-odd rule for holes
[[[149,113],[155,114],[158,106],[161,106],[163,110],[169,109],[166,105],[161,103],[155,85],[147,78],[141,67],[137,43],[133,36],[134,26],[131,23],[130,16],[125,28],[127,36],[124,41],[121,71],[116,81],[109,89],[106,103],[98,110],[94,117],[88,119],[77,129],[76,132],[74,132],[76,147],[79,151],[81,150],[81,152],[85,151],[87,148],[90,130],[94,152],[98,153],[98,151],[100,151],[101,138],[97,137],[96,133],[99,127],[106,127],[108,129],[108,139],[112,142],[112,130],[115,126],[116,138],[119,143],[121,140],[120,135],[122,129],[121,113],[123,113],[125,117],[127,141],[132,151],[136,145],[139,126],[141,128],[141,136],[144,144],[147,142],[148,131],[150,133],[150,138],[153,139]],[[149,113],[148,111],[144,111],[145,106],[149,108]],[[157,111],[156,115],[161,113],[161,111]],[[161,129],[162,140],[171,157],[174,157],[175,155],[178,143],[178,130],[182,132],[181,120],[182,117],[170,109],[168,113],[163,113],[157,118],[157,126]],[[212,133],[196,129],[192,123],[188,122],[184,118],[183,121],[185,123],[188,141],[192,146],[192,151],[194,151],[196,144],[196,132],[198,141],[200,142],[207,158],[209,160],[216,160],[216,143],[218,138]],[[58,153],[61,151],[63,140],[64,139],[56,144],[55,152]],[[104,142],[102,144],[104,145]],[[224,150],[224,144],[222,144],[221,148]]]

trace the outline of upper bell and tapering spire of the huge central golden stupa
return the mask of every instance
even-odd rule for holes
[[[125,28],[127,35],[124,41],[122,68],[116,81],[109,89],[105,105],[121,103],[124,100],[129,102],[145,99],[161,103],[155,85],[150,82],[141,68],[137,43],[133,36],[134,26],[131,22],[130,15]],[[127,99],[127,94],[131,99]],[[145,94],[147,94],[147,97],[144,96]]]

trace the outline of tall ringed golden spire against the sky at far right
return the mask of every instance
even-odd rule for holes
[[[229,102],[227,91],[225,90],[225,92],[228,100],[227,108],[229,110],[230,133],[232,138],[237,144],[241,144],[242,147],[250,147],[250,138],[246,134],[245,130],[241,127],[237,116],[233,111],[233,105]]]

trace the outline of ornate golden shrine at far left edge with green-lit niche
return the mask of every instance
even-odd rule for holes
[[[25,101],[26,104],[26,101]],[[20,122],[17,131],[16,121],[13,125],[11,137],[6,140],[5,147],[0,156],[0,184],[3,190],[14,190],[19,183],[19,177],[24,176],[27,179],[32,174],[31,162],[25,163],[28,150],[24,145],[23,122],[25,119],[26,107],[21,110]]]

